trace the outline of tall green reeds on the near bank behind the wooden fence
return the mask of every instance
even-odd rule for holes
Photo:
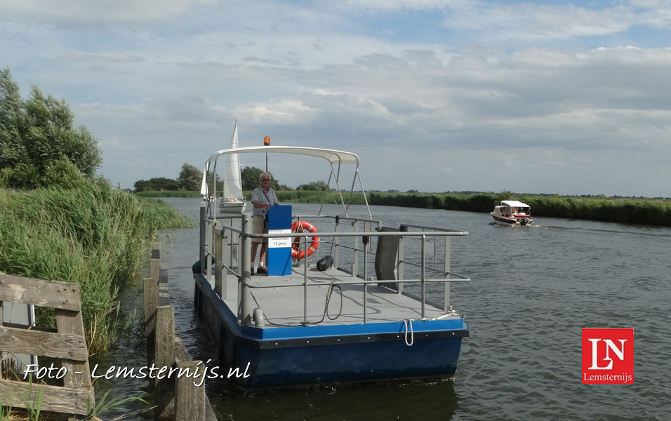
[[[0,191],[0,271],[79,284],[90,352],[117,330],[119,293],[138,281],[158,229],[193,222],[155,199],[104,182],[77,189]],[[41,326],[53,326],[40,313]]]

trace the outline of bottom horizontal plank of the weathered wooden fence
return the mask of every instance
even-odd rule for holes
[[[39,396],[39,394],[42,394]],[[66,414],[86,415],[87,405],[93,408],[93,393],[88,389],[36,385],[12,380],[0,380],[0,402],[15,408],[37,407],[41,410]],[[26,404],[27,403],[27,404]]]

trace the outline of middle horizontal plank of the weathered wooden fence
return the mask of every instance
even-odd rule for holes
[[[77,361],[88,360],[88,349],[83,336],[2,326],[0,326],[0,351]]]

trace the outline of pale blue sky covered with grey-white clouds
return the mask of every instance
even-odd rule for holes
[[[201,168],[237,120],[241,146],[270,135],[357,153],[366,189],[671,196],[669,0],[0,11],[0,67],[23,96],[34,84],[64,98],[100,140],[100,173],[125,187]],[[320,168],[270,160],[292,187],[326,180]]]

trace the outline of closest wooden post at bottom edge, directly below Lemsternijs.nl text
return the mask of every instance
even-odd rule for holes
[[[180,361],[177,368],[188,369],[190,373],[198,368],[200,374],[204,366],[201,361]],[[175,383],[175,420],[205,420],[205,383],[196,386],[200,379],[193,375],[182,375]]]

